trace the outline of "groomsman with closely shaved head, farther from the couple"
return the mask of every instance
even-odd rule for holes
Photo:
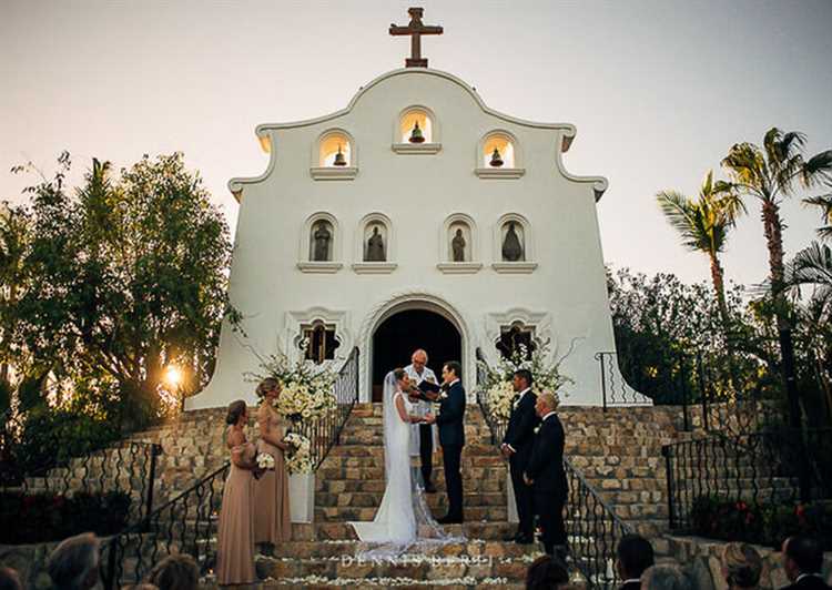
[[[564,505],[569,486],[564,470],[564,426],[555,410],[558,407],[555,394],[548,391],[537,396],[535,409],[541,418],[535,437],[531,458],[526,466],[526,484],[534,487],[535,511],[540,519],[541,540],[548,555],[566,558],[566,528]]]

